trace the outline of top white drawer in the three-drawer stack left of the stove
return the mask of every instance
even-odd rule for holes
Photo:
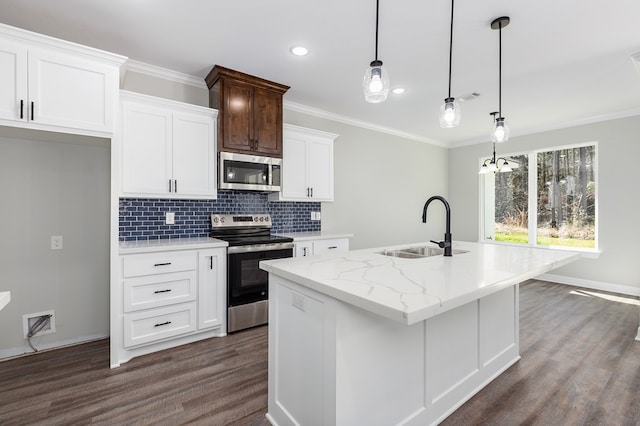
[[[194,251],[130,254],[123,256],[122,275],[127,278],[167,272],[194,271],[197,264],[198,257]]]

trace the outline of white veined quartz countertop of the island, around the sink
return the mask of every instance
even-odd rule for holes
[[[405,244],[260,262],[270,273],[375,314],[414,324],[580,258],[571,251],[454,241],[467,253],[384,256]]]

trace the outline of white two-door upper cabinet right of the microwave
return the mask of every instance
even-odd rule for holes
[[[338,135],[284,125],[279,201],[333,201],[333,143]]]

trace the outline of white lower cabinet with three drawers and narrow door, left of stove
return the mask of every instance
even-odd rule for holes
[[[226,335],[226,259],[224,247],[121,255],[112,366]]]

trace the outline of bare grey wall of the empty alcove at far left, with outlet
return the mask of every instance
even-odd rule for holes
[[[31,352],[23,314],[55,310],[39,349],[109,335],[109,167],[109,140],[0,128],[0,358]]]

